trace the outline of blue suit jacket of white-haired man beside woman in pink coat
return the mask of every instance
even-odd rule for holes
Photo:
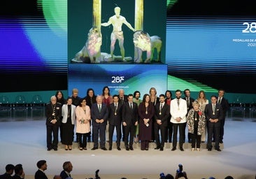
[[[108,107],[106,106],[106,103],[101,103],[101,112],[99,112],[98,104],[93,103],[92,109],[91,109],[91,117],[92,117],[92,125],[99,125],[100,123],[97,123],[96,120],[104,119],[104,123],[106,124],[106,121],[108,120]]]

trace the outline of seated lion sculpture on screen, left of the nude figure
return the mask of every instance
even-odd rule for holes
[[[85,63],[99,63],[102,37],[97,27],[92,27],[88,32],[87,41],[82,50],[76,53],[75,60]]]

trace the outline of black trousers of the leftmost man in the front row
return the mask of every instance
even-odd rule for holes
[[[58,135],[59,135],[59,124],[46,125],[46,142],[47,148],[57,149],[58,148]]]

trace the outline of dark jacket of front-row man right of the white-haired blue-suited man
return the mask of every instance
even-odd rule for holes
[[[109,117],[108,121],[111,125],[121,125],[122,123],[122,103],[118,103],[118,108],[115,112],[115,103],[111,103],[109,106]],[[115,115],[116,113],[116,115]]]

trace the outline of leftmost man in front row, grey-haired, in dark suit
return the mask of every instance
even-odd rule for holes
[[[51,96],[50,103],[45,106],[46,129],[47,129],[47,150],[57,150],[59,124],[62,117],[62,104],[57,103],[56,96]],[[52,140],[53,136],[53,140]]]

